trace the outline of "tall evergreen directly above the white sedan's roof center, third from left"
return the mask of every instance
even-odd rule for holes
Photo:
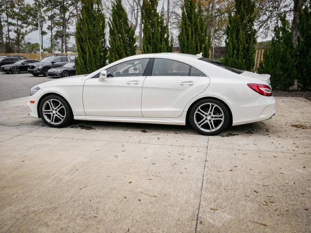
[[[158,0],[143,0],[141,17],[143,23],[142,52],[171,52],[172,40],[169,39],[168,25],[164,22],[164,13],[157,12]]]

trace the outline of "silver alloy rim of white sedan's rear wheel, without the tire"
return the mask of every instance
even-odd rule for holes
[[[195,125],[205,132],[214,132],[224,123],[224,112],[215,103],[201,104],[194,112]]]

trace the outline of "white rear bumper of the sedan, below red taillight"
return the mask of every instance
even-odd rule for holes
[[[274,97],[259,96],[255,99],[227,100],[232,110],[232,125],[242,125],[271,118],[276,113]]]

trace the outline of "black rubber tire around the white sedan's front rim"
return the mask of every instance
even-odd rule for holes
[[[57,124],[50,123],[50,122],[52,122],[52,116],[50,114],[46,114],[45,116],[43,115],[43,106],[45,105],[46,101],[48,101],[48,100],[49,101],[52,100],[52,104],[53,103],[57,103],[57,101],[62,103],[63,107],[65,108],[65,115],[63,114],[64,113],[63,109],[62,109],[62,112],[61,112],[61,114],[63,116],[65,116],[62,122],[57,123],[57,119],[59,120],[60,118],[59,117],[54,117],[56,119],[55,123],[57,123]],[[55,107],[55,105],[56,104],[54,104],[53,107]],[[64,98],[56,96],[56,95],[49,95],[49,96],[46,96],[45,98],[43,98],[43,100],[41,100],[40,105],[39,105],[39,114],[41,116],[41,119],[44,121],[44,123],[46,123],[48,126],[53,127],[53,128],[65,127],[73,119],[72,111],[71,111],[71,108],[70,108],[69,104],[67,103],[67,101]],[[51,118],[51,121],[48,121],[49,118]]]

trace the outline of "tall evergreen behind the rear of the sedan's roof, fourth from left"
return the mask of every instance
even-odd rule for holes
[[[209,57],[210,34],[207,35],[207,23],[199,1],[184,0],[178,40],[180,52],[189,54],[202,52],[204,57]]]

